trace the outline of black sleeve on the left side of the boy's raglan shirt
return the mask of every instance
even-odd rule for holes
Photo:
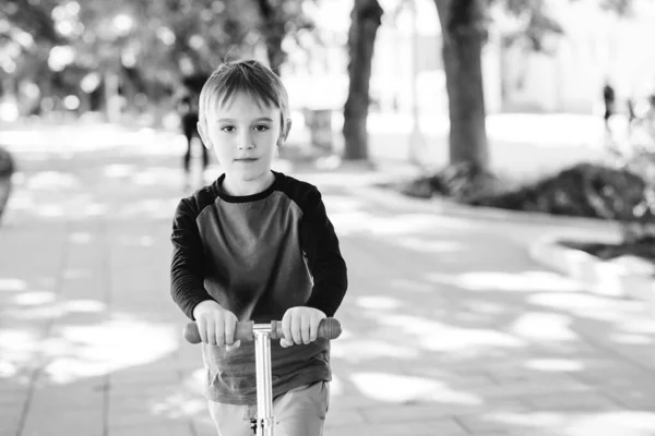
[[[212,300],[204,289],[203,247],[195,223],[198,213],[188,199],[180,201],[172,220],[172,261],[170,263],[170,294],[172,301],[193,319],[193,308]]]

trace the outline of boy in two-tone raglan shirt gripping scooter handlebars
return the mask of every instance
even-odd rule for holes
[[[271,170],[290,124],[284,85],[257,61],[224,63],[203,86],[198,130],[225,173],[178,205],[171,295],[199,326],[222,436],[252,435],[257,414],[253,342],[234,341],[237,320],[282,319],[275,435],[320,435],[327,411],[330,343],[317,329],[344,298],[346,265],[319,191]]]

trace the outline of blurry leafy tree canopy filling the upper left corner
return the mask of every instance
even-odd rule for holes
[[[272,29],[283,38],[311,27],[302,0],[9,0],[0,11],[3,22],[11,32],[0,25],[0,52],[3,44],[16,44],[10,39],[16,33],[34,38],[15,57],[10,76],[41,83],[73,71],[109,72],[146,94],[207,74],[228,56],[252,56]],[[55,46],[74,52],[59,71],[48,65]]]

